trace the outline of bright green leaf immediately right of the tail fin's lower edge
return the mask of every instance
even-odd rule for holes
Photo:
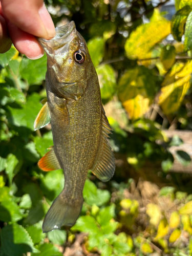
[[[81,232],[90,233],[99,232],[98,224],[92,216],[80,216],[71,230],[79,230]]]

